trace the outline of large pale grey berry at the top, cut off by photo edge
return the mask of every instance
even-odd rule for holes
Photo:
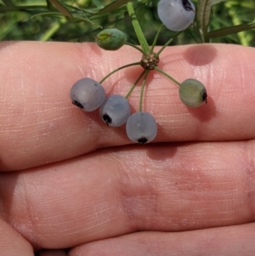
[[[190,0],[161,0],[157,14],[167,29],[183,31],[195,18],[195,6]]]

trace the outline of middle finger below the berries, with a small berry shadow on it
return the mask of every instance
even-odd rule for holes
[[[122,146],[0,175],[1,212],[35,247],[255,221],[254,141]]]

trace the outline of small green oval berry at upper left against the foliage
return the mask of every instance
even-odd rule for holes
[[[100,31],[96,37],[96,43],[100,48],[115,51],[121,48],[126,42],[126,35],[116,28],[109,28]]]

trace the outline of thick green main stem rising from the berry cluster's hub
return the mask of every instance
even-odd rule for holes
[[[132,2],[128,2],[127,3],[127,12],[129,14],[129,17],[132,20],[133,29],[134,29],[134,31],[136,33],[136,36],[138,37],[139,43],[141,45],[141,48],[144,51],[144,54],[150,53],[149,44],[147,43],[147,40],[144,37],[144,33],[143,33],[143,31],[142,31],[142,29],[141,29],[141,27],[139,25],[139,21],[136,18]]]

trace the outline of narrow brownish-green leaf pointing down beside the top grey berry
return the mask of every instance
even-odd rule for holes
[[[205,39],[207,37],[207,28],[211,16],[212,5],[224,1],[227,0],[198,0],[197,21],[204,41],[206,41]]]

